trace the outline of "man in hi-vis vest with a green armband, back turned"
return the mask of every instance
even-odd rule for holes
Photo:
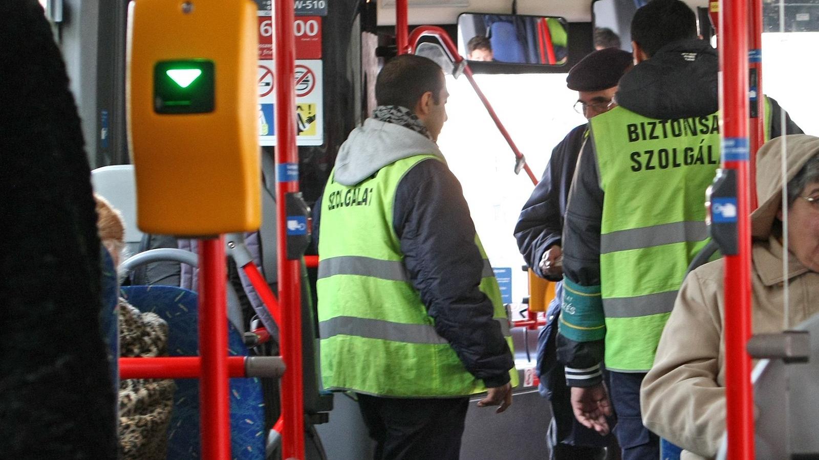
[[[656,460],[640,383],[686,268],[708,241],[705,190],[720,165],[719,61],[679,0],[637,10],[631,39],[636,65],[620,80],[618,107],[590,120],[569,193],[558,357],[577,420],[604,434],[616,412],[622,458]],[[771,100],[766,108],[776,120],[767,133],[777,136],[781,109]],[[787,121],[789,133],[801,133]]]

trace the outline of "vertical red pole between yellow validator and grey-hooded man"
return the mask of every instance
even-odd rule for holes
[[[293,2],[274,2],[274,66],[276,79],[276,214],[278,218],[278,303],[283,333],[282,378],[283,458],[303,460],[304,395],[301,380],[301,260],[287,259],[287,193],[299,190],[296,147],[296,38]]]

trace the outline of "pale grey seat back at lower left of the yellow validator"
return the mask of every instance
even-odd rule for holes
[[[137,227],[137,192],[133,165],[102,166],[91,171],[94,192],[119,210],[125,224],[125,246],[136,252],[143,232]]]

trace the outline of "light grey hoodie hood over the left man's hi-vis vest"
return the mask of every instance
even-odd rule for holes
[[[384,166],[416,155],[444,156],[435,142],[400,124],[368,118],[353,129],[336,157],[333,179],[353,186]]]

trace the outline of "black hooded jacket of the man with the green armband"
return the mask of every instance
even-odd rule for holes
[[[718,108],[716,50],[704,40],[684,40],[661,48],[620,80],[618,105],[658,120],[713,114]],[[770,98],[769,98],[770,99]],[[771,101],[771,138],[780,136],[781,107]],[[786,133],[802,133],[785,114]],[[597,139],[600,142],[601,139]],[[598,178],[595,140],[583,147],[569,194],[563,227],[563,276],[581,286],[600,285],[600,219],[604,192]],[[682,280],[680,280],[682,282]],[[558,357],[568,368],[595,368],[604,340],[577,342],[558,336]],[[592,386],[600,377],[567,379],[569,386]]]

